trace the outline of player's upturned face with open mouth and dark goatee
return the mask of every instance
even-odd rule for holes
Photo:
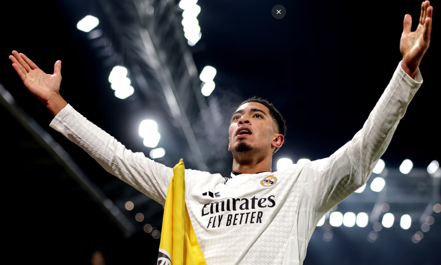
[[[228,133],[229,151],[268,149],[270,152],[275,132],[269,109],[257,102],[243,104],[233,114]]]

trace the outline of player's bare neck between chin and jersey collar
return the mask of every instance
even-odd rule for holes
[[[254,154],[255,155],[255,154]],[[260,172],[271,172],[272,156],[254,159],[242,159],[243,157],[253,157],[253,154],[241,153],[233,155],[233,171],[241,174],[256,174]]]

